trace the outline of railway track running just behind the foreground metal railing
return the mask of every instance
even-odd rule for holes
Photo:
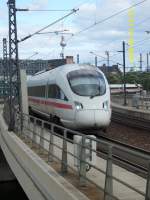
[[[45,128],[48,128],[48,127],[45,127]],[[58,134],[59,134],[59,131],[61,134],[60,129],[58,129],[57,131],[58,131],[57,132]],[[123,143],[118,140],[108,138],[106,135],[104,135],[104,132],[102,132],[100,130],[84,130],[84,131],[82,131],[82,133],[88,134],[88,135],[95,135],[101,141],[105,141],[105,142],[111,144],[112,146],[114,146],[113,161],[115,164],[117,164],[120,167],[123,167],[133,173],[136,173],[142,177],[145,177],[147,175],[147,171],[148,171],[147,160],[137,158],[134,155],[131,156],[128,153],[126,153],[125,150],[130,149],[131,151],[137,151],[141,154],[146,154],[148,156],[150,155],[149,151],[145,151],[141,148],[131,146],[127,143]],[[69,140],[70,139],[73,140],[73,137],[71,137],[71,138],[69,137]],[[119,147],[123,147],[124,150],[120,150]],[[100,145],[98,144],[97,150],[98,150],[98,156],[100,156],[104,159],[107,158],[108,146],[103,145],[103,144],[100,144]]]

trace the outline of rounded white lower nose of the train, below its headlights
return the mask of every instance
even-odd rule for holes
[[[106,127],[110,123],[110,114],[105,110],[76,111],[76,126],[78,128]]]

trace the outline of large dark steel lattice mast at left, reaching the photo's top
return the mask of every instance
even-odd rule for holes
[[[8,130],[13,131],[15,126],[14,112],[15,104],[18,106],[22,125],[22,98],[20,68],[18,62],[18,39],[16,23],[16,2],[8,0],[9,10],[9,126]],[[21,127],[22,128],[22,127]]]

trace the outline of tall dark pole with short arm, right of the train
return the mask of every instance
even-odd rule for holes
[[[124,90],[124,106],[127,105],[127,91],[126,91],[126,52],[125,52],[125,42],[122,42],[122,51],[123,55],[123,90]]]

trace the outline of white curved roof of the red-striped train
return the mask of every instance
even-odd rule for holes
[[[91,65],[87,65],[87,64],[66,64],[66,65],[62,65],[62,66],[59,66],[57,68],[50,69],[47,71],[37,72],[33,76],[29,76],[27,78],[27,85],[28,86],[45,85],[45,84],[47,84],[47,80],[50,78],[50,75],[52,78],[54,78],[59,73],[66,75],[70,71],[74,71],[77,69],[84,69],[84,68],[95,69],[95,70],[101,71],[98,68],[96,68],[95,66],[91,66]]]

